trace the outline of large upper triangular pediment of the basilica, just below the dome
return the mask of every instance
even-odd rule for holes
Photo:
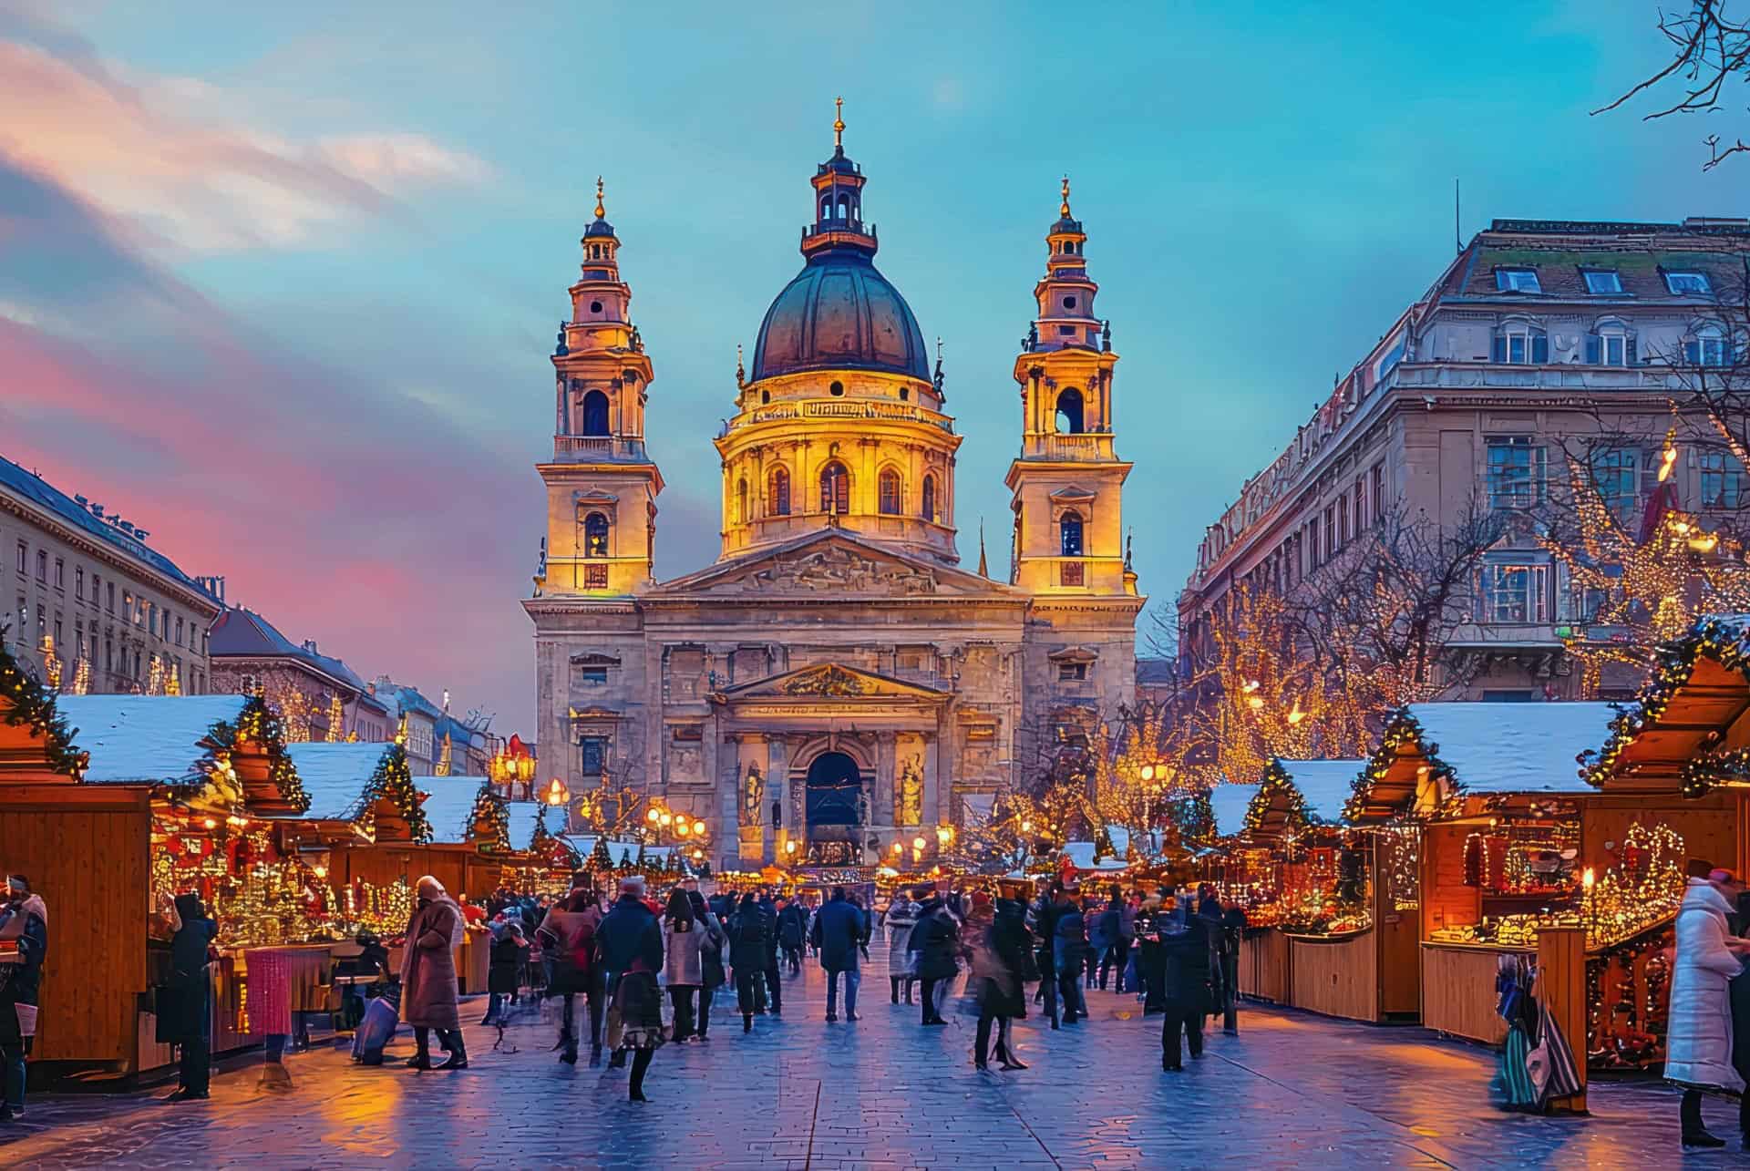
[[[644,599],[712,595],[756,597],[1015,597],[1027,593],[964,569],[822,529],[707,565],[653,588]]]

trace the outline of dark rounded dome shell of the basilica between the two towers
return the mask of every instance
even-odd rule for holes
[[[861,250],[810,256],[760,324],[752,382],[808,369],[877,369],[929,382],[912,306]]]

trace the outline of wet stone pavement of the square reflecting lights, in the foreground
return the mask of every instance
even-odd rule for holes
[[[1090,992],[1094,1017],[1017,1027],[1032,1068],[976,1073],[971,1026],[922,1029],[892,1006],[877,950],[858,1024],[828,1026],[824,980],[788,978],[784,1017],[719,1003],[709,1045],[656,1054],[649,1104],[623,1069],[569,1068],[551,1026],[467,1033],[457,1073],[354,1066],[341,1048],[289,1057],[289,1094],[257,1062],[214,1080],[210,1103],[156,1094],[38,1096],[0,1131],[0,1162],[66,1166],[581,1166],[581,1167],[1250,1167],[1676,1166],[1676,1099],[1656,1083],[1594,1085],[1589,1118],[1528,1118],[1488,1104],[1493,1057],[1421,1029],[1377,1029],[1251,1010],[1185,1073],[1160,1071],[1158,1024],[1132,998]],[[472,1001],[478,1019],[480,1001]],[[467,1006],[464,1008],[464,1015]],[[402,1055],[402,1031],[390,1050]],[[1717,1134],[1734,1108],[1708,1106]],[[1690,1155],[1727,1166],[1736,1150]]]

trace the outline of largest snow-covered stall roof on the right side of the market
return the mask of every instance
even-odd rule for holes
[[[1421,742],[1472,793],[1591,793],[1575,758],[1605,739],[1610,704],[1410,704]]]

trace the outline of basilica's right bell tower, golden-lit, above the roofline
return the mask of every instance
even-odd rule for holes
[[[1015,359],[1020,457],[1006,485],[1015,513],[1010,581],[1034,595],[1136,595],[1124,548],[1122,492],[1130,464],[1113,452],[1111,324],[1094,315],[1087,233],[1064,179],[1045,236],[1038,315]]]

